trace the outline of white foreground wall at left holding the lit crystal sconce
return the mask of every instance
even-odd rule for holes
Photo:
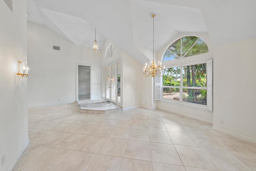
[[[19,59],[27,59],[27,3],[0,0],[0,170],[12,170],[29,143],[27,80],[17,80]]]

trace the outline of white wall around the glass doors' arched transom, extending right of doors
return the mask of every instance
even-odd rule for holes
[[[114,55],[105,59],[106,48],[110,43],[112,43],[110,40],[106,40],[102,49],[102,67],[114,62],[121,62],[121,105],[124,110],[140,107],[142,105],[141,74],[143,73],[143,66],[113,43],[112,46],[115,47]]]

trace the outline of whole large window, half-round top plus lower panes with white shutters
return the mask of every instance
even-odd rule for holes
[[[184,36],[166,49],[162,62],[207,52],[208,46],[201,38]],[[212,111],[212,60],[209,61],[208,55],[200,62],[188,59],[166,64],[162,79],[158,82],[155,79],[155,99],[205,107]]]

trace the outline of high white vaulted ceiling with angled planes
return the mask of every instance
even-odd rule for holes
[[[28,0],[28,20],[78,46],[106,38],[144,64],[181,32],[208,32],[214,46],[256,37],[256,0]]]

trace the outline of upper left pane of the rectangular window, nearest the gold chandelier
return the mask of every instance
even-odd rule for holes
[[[166,68],[163,76],[164,86],[180,86],[180,67]]]

